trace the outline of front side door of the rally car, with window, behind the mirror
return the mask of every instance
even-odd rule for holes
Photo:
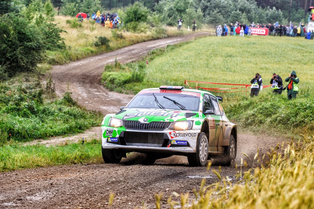
[[[203,113],[206,110],[214,111],[214,106],[212,104],[212,100],[209,94],[204,94],[203,96]],[[209,122],[209,138],[208,138],[208,151],[216,151],[217,150],[217,137],[215,135],[215,118],[213,118],[213,114],[206,114],[206,118],[208,118]]]

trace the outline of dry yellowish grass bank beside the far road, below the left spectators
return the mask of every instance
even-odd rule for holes
[[[187,30],[177,31],[175,27],[167,27],[165,34],[156,34],[154,32],[134,34],[123,30],[111,30],[99,24],[94,24],[91,20],[84,20],[82,24],[76,24],[76,28],[71,28],[70,24],[66,23],[69,20],[71,21],[73,18],[67,16],[55,17],[57,26],[67,31],[61,34],[67,49],[47,51],[47,62],[49,64],[63,64],[148,40],[191,33]],[[96,47],[94,44],[99,36],[109,39],[109,45]]]

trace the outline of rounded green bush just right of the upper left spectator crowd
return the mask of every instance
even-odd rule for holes
[[[135,2],[133,5],[126,8],[122,19],[124,24],[141,23],[146,22],[148,14],[149,9],[144,7],[142,3]]]

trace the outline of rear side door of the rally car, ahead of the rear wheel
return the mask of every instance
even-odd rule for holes
[[[220,111],[219,108],[219,102],[218,99],[216,97],[210,96],[213,107],[214,107],[214,111],[215,111],[215,115],[213,115],[212,117],[215,119],[215,130],[214,130],[214,138],[216,138],[216,141],[210,145],[210,146],[215,146],[216,150],[218,151],[218,144],[219,141],[222,141],[224,138],[224,134],[223,134],[223,119],[222,119],[222,114],[223,112]]]

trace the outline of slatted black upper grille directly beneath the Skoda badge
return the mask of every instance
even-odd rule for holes
[[[131,130],[154,130],[154,131],[163,131],[169,126],[170,122],[150,122],[150,123],[141,123],[139,121],[133,120],[124,120],[123,126],[126,129]]]

